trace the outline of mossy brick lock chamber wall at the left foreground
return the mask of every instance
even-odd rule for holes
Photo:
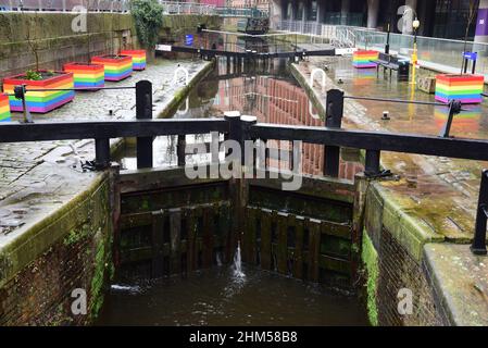
[[[0,325],[88,324],[113,276],[112,179],[93,185],[0,253]],[[87,315],[72,313],[85,289]]]

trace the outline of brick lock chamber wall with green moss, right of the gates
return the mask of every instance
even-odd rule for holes
[[[379,185],[378,185],[379,186]],[[424,265],[423,246],[435,241],[418,238],[421,227],[406,219],[391,197],[370,185],[365,202],[363,264],[365,298],[374,325],[447,325],[445,310]],[[412,314],[398,310],[399,291],[412,291]]]

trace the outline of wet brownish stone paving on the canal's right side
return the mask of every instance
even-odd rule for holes
[[[345,59],[346,60],[346,59]],[[335,66],[336,64],[336,66]],[[359,85],[361,76],[352,72],[350,61],[337,63],[337,59],[313,58],[300,64],[300,72],[310,79],[310,72],[315,67],[328,67],[326,89],[343,89],[348,95],[383,98],[410,99],[408,83],[391,83],[376,79],[376,72],[371,83]],[[318,76],[318,75],[316,75]],[[367,79],[365,80],[367,82]],[[363,84],[364,82],[361,82]],[[380,88],[378,91],[377,89]],[[325,100],[325,92],[316,78],[314,89]],[[434,101],[431,96],[415,92],[414,98]],[[430,107],[409,107],[385,102],[345,101],[345,128],[368,130],[387,130],[400,133],[420,133],[437,135],[439,125]],[[381,121],[383,110],[390,111],[392,121]],[[484,111],[481,111],[481,117]],[[410,120],[409,120],[410,117]],[[488,128],[483,123],[471,133],[456,133],[455,136],[486,138]],[[487,163],[427,157],[405,153],[383,152],[381,164],[400,175],[399,181],[384,182],[383,186],[396,195],[402,208],[424,221],[431,232],[446,236],[456,243],[468,243],[473,237],[475,212],[477,207],[479,178]]]

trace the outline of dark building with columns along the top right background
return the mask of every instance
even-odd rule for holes
[[[405,5],[421,21],[420,35],[464,39],[471,8],[468,39],[488,42],[488,0],[270,0],[273,23],[283,20],[363,26],[411,34],[399,23]],[[473,7],[474,5],[474,7]]]

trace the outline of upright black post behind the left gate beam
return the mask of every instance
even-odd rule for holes
[[[152,84],[139,80],[136,84],[136,119],[152,120]],[[152,137],[137,138],[137,167],[152,167]]]

